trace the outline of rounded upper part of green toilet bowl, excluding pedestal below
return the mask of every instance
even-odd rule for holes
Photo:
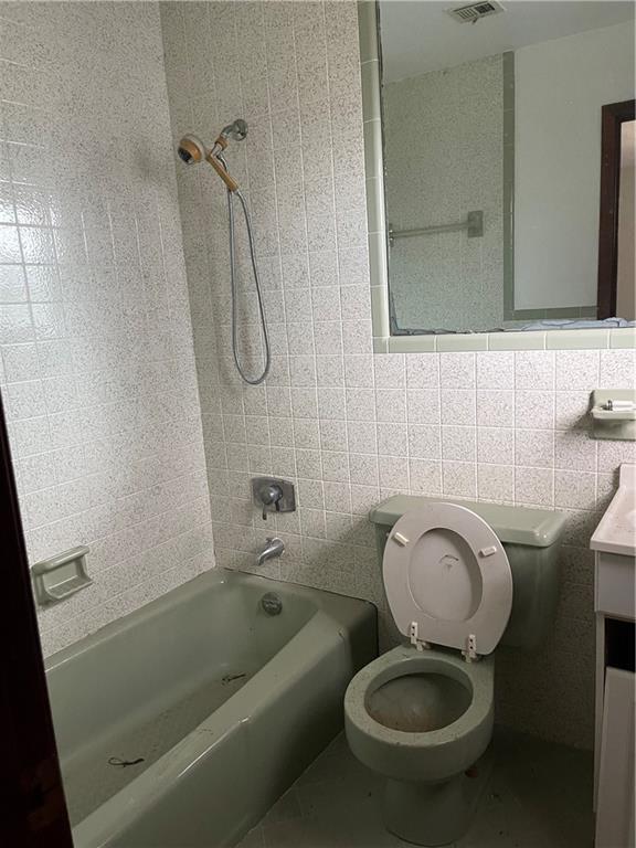
[[[469,768],[492,732],[494,661],[400,646],[365,666],[344,697],[347,740],[369,768],[445,781]]]

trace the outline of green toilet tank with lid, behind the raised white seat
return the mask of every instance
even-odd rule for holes
[[[395,495],[371,510],[380,563],[386,536],[405,512],[439,501],[466,507],[483,518],[502,542],[512,572],[512,610],[502,645],[528,650],[549,633],[559,600],[559,545],[565,516],[547,509],[508,507],[453,498]]]

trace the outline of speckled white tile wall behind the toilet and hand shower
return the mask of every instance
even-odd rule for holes
[[[218,562],[374,601],[386,611],[370,507],[395,491],[564,509],[554,635],[498,651],[498,716],[591,746],[589,536],[633,444],[590,438],[589,392],[634,382],[632,351],[373,356],[357,11],[352,2],[162,3],[174,139],[250,123],[232,168],[248,193],[273,368],[243,386],[231,361],[225,199],[211,171],[178,170]],[[247,292],[248,277],[242,276]],[[253,296],[243,337],[258,363]],[[264,522],[250,478],[293,479],[299,508]]]

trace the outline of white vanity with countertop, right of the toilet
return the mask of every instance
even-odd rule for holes
[[[632,848],[635,844],[636,465],[621,466],[618,490],[590,545],[595,551],[595,846]]]

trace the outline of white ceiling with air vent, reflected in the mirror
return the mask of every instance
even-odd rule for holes
[[[384,82],[634,20],[630,0],[502,0],[505,12],[457,23],[445,10],[470,0],[381,0]]]

